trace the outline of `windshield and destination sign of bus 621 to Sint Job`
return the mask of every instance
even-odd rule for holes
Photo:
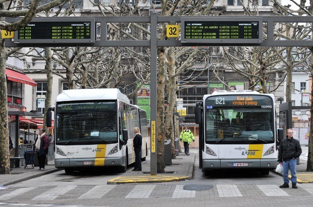
[[[205,105],[207,144],[274,143],[274,106],[261,95],[210,96]]]

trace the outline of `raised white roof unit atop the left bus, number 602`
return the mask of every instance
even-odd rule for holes
[[[56,101],[114,100],[117,98],[129,103],[128,97],[117,88],[64,90],[58,95]]]

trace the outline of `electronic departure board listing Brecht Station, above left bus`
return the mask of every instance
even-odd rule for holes
[[[94,18],[34,18],[14,36],[15,43],[92,43]]]

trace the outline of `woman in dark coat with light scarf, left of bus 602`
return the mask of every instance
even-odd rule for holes
[[[49,138],[44,129],[39,129],[39,138],[36,141],[36,150],[38,151],[39,170],[44,170],[45,157],[49,149]],[[39,150],[38,150],[39,148]]]

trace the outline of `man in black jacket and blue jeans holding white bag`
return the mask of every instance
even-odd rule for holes
[[[289,188],[288,171],[291,174],[292,188],[297,187],[296,167],[297,158],[300,157],[302,149],[300,142],[293,138],[293,130],[287,129],[287,137],[280,142],[278,149],[278,162],[283,165],[284,184],[280,188]]]

